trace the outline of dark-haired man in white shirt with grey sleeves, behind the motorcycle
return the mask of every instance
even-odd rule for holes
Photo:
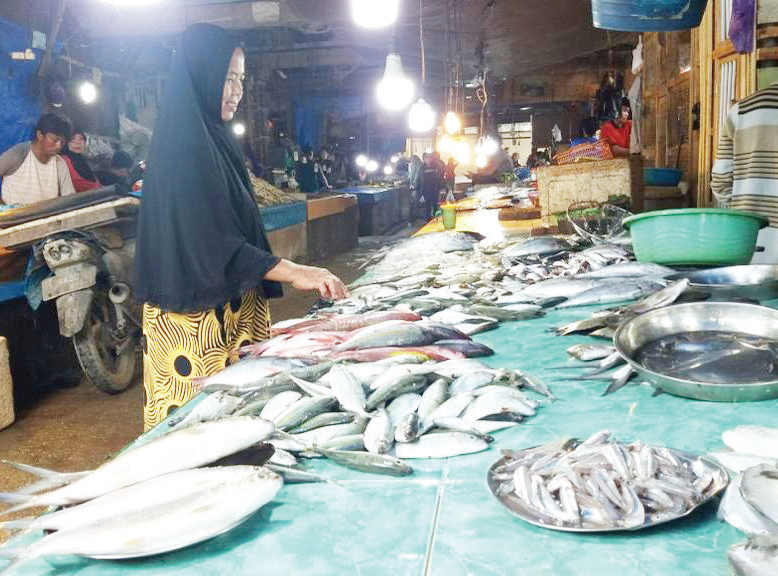
[[[31,142],[21,142],[0,155],[0,198],[4,204],[26,205],[75,194],[68,165],[60,156],[73,126],[58,114],[44,114]]]

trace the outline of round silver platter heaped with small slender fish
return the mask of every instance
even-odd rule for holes
[[[672,522],[727,487],[726,469],[699,454],[597,436],[507,452],[489,468],[489,490],[535,526],[597,533]]]

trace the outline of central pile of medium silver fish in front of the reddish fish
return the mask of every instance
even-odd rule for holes
[[[319,456],[404,475],[412,469],[399,459],[486,450],[490,433],[535,414],[540,404],[525,390],[553,399],[542,381],[519,370],[470,358],[420,360],[402,353],[356,364],[247,358],[204,379],[209,396],[171,424],[259,415],[276,426],[269,462],[287,480],[300,477],[299,457]]]

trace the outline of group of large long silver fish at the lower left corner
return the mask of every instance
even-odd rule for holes
[[[222,534],[270,502],[283,480],[260,466],[202,467],[267,440],[273,431],[273,424],[258,418],[223,418],[130,447],[93,471],[59,474],[16,465],[42,479],[0,494],[0,501],[15,504],[4,514],[67,508],[2,523],[7,530],[47,533],[2,553],[12,564],[63,554],[134,558]]]

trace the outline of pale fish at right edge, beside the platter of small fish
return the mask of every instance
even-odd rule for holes
[[[722,440],[730,451],[711,456],[736,476],[719,518],[750,537],[730,549],[730,564],[738,576],[778,574],[778,429],[738,426]]]

